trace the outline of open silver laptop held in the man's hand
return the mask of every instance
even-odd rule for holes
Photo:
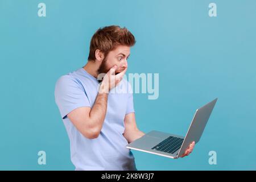
[[[127,144],[126,147],[167,158],[179,158],[190,143],[199,142],[216,102],[217,98],[196,110],[185,137],[153,130]]]

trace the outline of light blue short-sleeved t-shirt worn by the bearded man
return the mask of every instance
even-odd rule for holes
[[[123,79],[108,96],[106,117],[95,139],[84,137],[67,117],[77,107],[93,107],[98,94],[97,78],[84,68],[61,76],[55,85],[55,102],[60,110],[76,170],[137,170],[133,153],[123,132],[126,114],[134,112],[133,93]]]

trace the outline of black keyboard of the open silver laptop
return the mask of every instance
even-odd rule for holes
[[[183,140],[183,138],[168,137],[151,149],[174,154],[181,147]]]

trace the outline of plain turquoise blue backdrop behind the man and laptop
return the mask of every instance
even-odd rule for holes
[[[46,17],[38,4],[46,3]],[[217,17],[208,15],[217,4]],[[133,32],[127,73],[159,73],[159,98],[134,94],[140,130],[185,135],[197,107],[218,97],[193,153],[133,151],[139,170],[256,169],[256,1],[0,0],[0,169],[73,170],[54,100],[57,78],[86,64],[90,38]],[[46,165],[38,151],[46,151]],[[217,165],[208,163],[217,152]]]

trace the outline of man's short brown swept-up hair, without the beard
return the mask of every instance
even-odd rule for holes
[[[127,28],[119,26],[108,26],[99,28],[90,40],[90,52],[88,60],[96,60],[95,51],[100,49],[106,57],[108,53],[117,46],[134,46],[136,40]]]

